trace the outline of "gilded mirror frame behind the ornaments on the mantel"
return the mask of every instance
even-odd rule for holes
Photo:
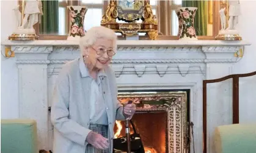
[[[25,0],[18,0],[18,5],[20,5],[20,12],[24,14],[24,1]],[[70,2],[76,2],[79,3],[79,1],[70,1]],[[213,16],[210,18],[208,22],[213,22],[213,35],[212,36],[197,36],[198,40],[215,40],[215,37],[218,35],[219,30],[221,29],[221,21],[219,18],[219,10],[221,6],[225,5],[227,7],[227,0],[220,0],[220,1],[212,1],[213,6]],[[106,7],[108,7],[108,1],[103,1],[103,12],[105,12]],[[210,6],[209,6],[210,7]],[[227,7],[228,8],[228,7]],[[228,14],[228,11],[227,11]],[[67,15],[68,16],[68,15]],[[228,20],[228,16],[227,20]],[[228,22],[227,22],[228,23]],[[37,35],[39,35],[40,40],[67,40],[67,35],[40,35],[39,34],[39,23],[34,25],[34,29]],[[122,36],[119,36],[119,40],[125,39]],[[146,36],[141,36],[139,38],[140,40],[149,40]],[[158,40],[178,40],[178,36],[172,36],[172,35],[158,35]]]

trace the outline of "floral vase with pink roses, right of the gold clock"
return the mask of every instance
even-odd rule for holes
[[[175,10],[178,16],[178,36],[179,40],[197,40],[194,27],[194,18],[197,7],[180,7]]]

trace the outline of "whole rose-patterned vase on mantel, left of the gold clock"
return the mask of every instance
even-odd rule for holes
[[[79,40],[85,35],[84,32],[84,15],[86,15],[87,7],[85,6],[67,6],[70,14],[70,30],[68,32],[67,40]]]

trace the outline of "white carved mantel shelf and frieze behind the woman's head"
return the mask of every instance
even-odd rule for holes
[[[62,65],[79,57],[74,41],[5,41],[15,52],[17,64],[46,64],[48,74],[59,73]],[[235,63],[243,57],[246,41],[117,41],[117,55],[112,60],[115,76],[137,74],[202,73],[207,63]],[[37,55],[38,54],[38,55]],[[40,54],[40,55],[39,55]],[[35,56],[31,56],[35,55]],[[43,55],[43,56],[42,56]],[[65,57],[65,58],[64,58]],[[68,57],[68,58],[67,58]]]

